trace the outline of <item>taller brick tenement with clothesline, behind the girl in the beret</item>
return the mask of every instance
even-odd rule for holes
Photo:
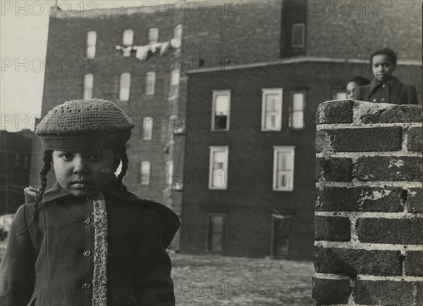
[[[184,4],[180,11],[180,4]],[[185,113],[185,70],[276,60],[280,55],[281,1],[234,1],[51,15],[42,115],[63,101],[83,96],[113,100],[137,125],[128,144],[130,167],[125,184],[180,212],[180,186],[169,172],[183,168],[183,127],[173,114]],[[254,32],[245,35],[245,28]],[[152,46],[180,39],[180,48],[161,53],[150,48],[124,56],[116,46]],[[180,65],[180,66],[178,66]],[[181,70],[178,72],[178,70]],[[177,116],[180,117],[180,116]],[[42,148],[34,146],[34,171],[42,167]],[[142,175],[142,171],[149,175]],[[148,176],[148,177],[147,177]],[[32,181],[37,185],[37,181]]]

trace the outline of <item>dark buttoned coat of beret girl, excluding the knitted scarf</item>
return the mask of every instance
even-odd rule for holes
[[[107,305],[174,305],[166,248],[178,216],[153,200],[122,191],[113,181],[102,191],[108,219]],[[35,208],[16,212],[1,262],[1,305],[92,305],[94,226],[92,199],[59,184]]]

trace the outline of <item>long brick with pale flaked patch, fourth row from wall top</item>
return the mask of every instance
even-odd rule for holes
[[[399,187],[326,187],[317,191],[317,211],[401,212]]]

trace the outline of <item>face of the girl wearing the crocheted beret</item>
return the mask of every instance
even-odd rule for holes
[[[88,197],[101,190],[116,171],[114,151],[53,152],[59,185],[73,196]]]

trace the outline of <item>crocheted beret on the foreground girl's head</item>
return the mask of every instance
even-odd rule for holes
[[[77,152],[125,146],[135,124],[111,101],[72,100],[51,109],[35,128],[45,150]]]

